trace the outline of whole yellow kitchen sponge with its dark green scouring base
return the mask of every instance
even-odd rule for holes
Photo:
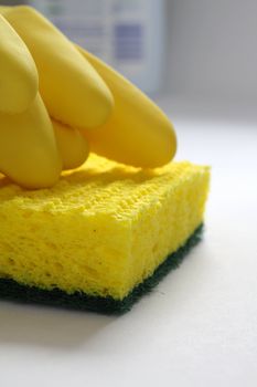
[[[0,179],[0,296],[119,313],[199,240],[208,168],[92,155],[51,189]]]

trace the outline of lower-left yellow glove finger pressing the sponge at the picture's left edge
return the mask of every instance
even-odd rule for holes
[[[25,112],[0,113],[0,128],[1,172],[25,188],[53,186],[62,161],[40,94]]]

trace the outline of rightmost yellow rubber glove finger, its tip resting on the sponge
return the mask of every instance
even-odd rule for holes
[[[115,98],[110,119],[83,134],[90,149],[136,167],[160,167],[176,151],[176,136],[164,113],[141,91],[86,50],[78,51],[96,69]]]

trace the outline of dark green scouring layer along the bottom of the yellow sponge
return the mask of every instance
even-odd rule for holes
[[[4,300],[22,303],[52,305],[106,315],[121,315],[129,312],[142,295],[150,293],[171,270],[179,268],[189,251],[201,241],[202,231],[203,224],[197,227],[183,247],[170,254],[151,276],[137,285],[122,300],[115,300],[110,296],[94,296],[82,292],[67,294],[60,289],[49,291],[36,286],[26,286],[10,279],[0,279],[0,296]]]

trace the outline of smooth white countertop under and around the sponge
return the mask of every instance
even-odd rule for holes
[[[165,107],[213,168],[203,242],[121,317],[0,302],[2,387],[256,386],[257,122]]]

